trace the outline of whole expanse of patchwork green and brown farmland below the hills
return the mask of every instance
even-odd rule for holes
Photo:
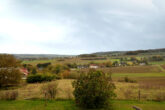
[[[41,110],[78,110],[80,108],[75,105],[74,95],[72,94],[74,91],[72,82],[79,78],[81,74],[88,73],[91,69],[90,64],[95,64],[98,65],[96,70],[110,75],[115,84],[117,96],[113,100],[114,110],[132,110],[134,105],[144,110],[164,110],[165,63],[164,61],[148,61],[148,64],[140,65],[138,61],[143,58],[144,56],[120,56],[118,58],[108,56],[102,59],[62,57],[22,60],[21,64],[30,70],[30,74],[33,74],[35,69],[37,72],[35,74],[56,74],[59,78],[42,83],[27,83],[26,80],[23,80],[18,87],[8,88],[7,90],[1,89],[0,97],[13,90],[18,91],[18,97],[15,101],[1,100],[0,109],[21,110],[25,108],[25,110],[36,110],[41,107]],[[123,61],[126,62],[124,65],[122,65]],[[113,65],[115,62],[119,64]],[[39,68],[39,64],[41,66],[48,64],[48,66]],[[54,71],[55,73],[53,73]],[[57,94],[54,100],[45,102],[42,88],[47,84],[57,84]],[[47,103],[47,106],[45,106],[45,103]]]

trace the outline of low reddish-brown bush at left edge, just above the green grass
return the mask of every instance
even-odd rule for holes
[[[1,100],[16,100],[18,97],[18,91],[6,91],[1,93]]]

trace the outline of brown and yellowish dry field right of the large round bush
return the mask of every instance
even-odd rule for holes
[[[133,78],[137,83],[115,81],[118,99],[165,100],[165,77]]]

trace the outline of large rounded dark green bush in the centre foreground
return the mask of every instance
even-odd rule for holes
[[[111,108],[115,86],[101,71],[90,71],[73,82],[76,104],[83,108]]]

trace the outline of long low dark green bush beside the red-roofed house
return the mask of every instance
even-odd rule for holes
[[[55,75],[51,74],[36,74],[36,75],[29,75],[26,79],[28,83],[36,83],[36,82],[46,82],[46,81],[52,81],[55,79]]]

